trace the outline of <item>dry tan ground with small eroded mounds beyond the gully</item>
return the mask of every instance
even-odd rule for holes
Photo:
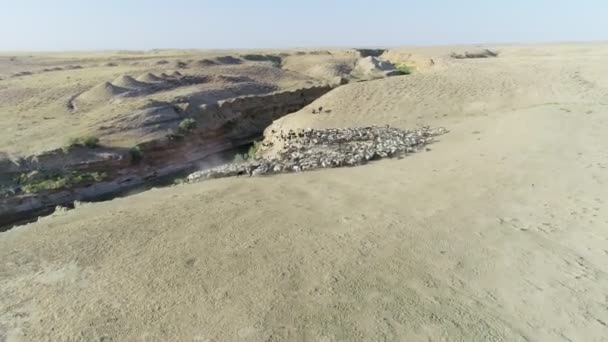
[[[246,59],[260,53],[278,57],[285,65]],[[0,53],[0,152],[29,156],[66,146],[70,138],[85,135],[100,138],[105,146],[132,147],[167,133],[162,128],[150,132],[150,127],[125,125],[125,119],[144,108],[184,103],[182,99],[215,103],[235,96],[323,85],[333,82],[332,77],[347,75],[350,70],[339,67],[358,59],[354,50],[287,50],[280,55],[283,57],[278,51],[196,50]],[[216,60],[225,56],[234,62]],[[209,62],[214,64],[206,64]],[[320,71],[315,69],[319,66]],[[158,81],[171,80],[175,72],[204,80],[151,89],[162,84]],[[169,77],[163,79],[163,74]],[[125,85],[121,81],[125,77],[138,83]],[[138,90],[139,94],[119,96],[125,90]]]

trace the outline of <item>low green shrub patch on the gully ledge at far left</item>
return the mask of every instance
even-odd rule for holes
[[[77,172],[69,173],[49,173],[37,172],[36,177],[32,173],[24,173],[17,179],[17,183],[22,186],[27,193],[37,193],[43,191],[60,190],[79,185],[87,185],[102,181],[107,175],[99,172]]]

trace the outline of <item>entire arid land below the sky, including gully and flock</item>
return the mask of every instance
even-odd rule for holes
[[[0,53],[0,341],[607,341],[608,44]]]

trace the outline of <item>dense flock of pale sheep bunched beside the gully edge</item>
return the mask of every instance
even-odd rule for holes
[[[371,160],[416,152],[445,132],[443,128],[428,127],[415,130],[390,127],[290,130],[279,133],[284,144],[276,156],[195,172],[188,176],[188,181],[363,165]]]

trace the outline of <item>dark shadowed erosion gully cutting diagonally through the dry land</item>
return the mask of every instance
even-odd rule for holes
[[[188,108],[184,114],[206,125],[184,137],[184,141],[164,138],[140,144],[144,158],[138,165],[116,161],[105,165],[90,163],[84,169],[110,170],[112,177],[109,180],[86,187],[0,198],[0,232],[50,215],[57,206],[74,208],[76,201],[100,202],[130,196],[175,184],[176,180],[194,171],[232,162],[237,154],[246,152],[254,141],[262,138],[264,129],[274,120],[300,110],[331,89],[329,86],[310,87]],[[41,160],[48,162],[46,165],[40,162],[26,165],[20,173],[44,169],[56,162],[53,155]],[[78,170],[83,170],[82,163]],[[0,176],[2,173],[0,169]]]

